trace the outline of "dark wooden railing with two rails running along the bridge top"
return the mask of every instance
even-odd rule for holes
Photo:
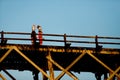
[[[25,32],[0,32],[0,43],[2,44],[31,44],[31,33]],[[38,34],[36,34],[37,36]],[[86,46],[99,47],[107,44],[109,47],[120,48],[120,37],[105,36],[79,36],[67,34],[42,34],[43,44],[58,46]]]

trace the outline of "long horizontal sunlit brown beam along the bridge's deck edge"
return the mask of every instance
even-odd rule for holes
[[[29,50],[34,50],[34,47],[32,47],[31,45],[21,45],[21,44],[7,44],[5,46],[1,46],[0,45],[0,49],[4,50],[4,49],[10,49],[11,47],[16,46],[19,50],[25,50],[25,51],[29,51]],[[60,52],[63,53],[65,52],[65,47],[64,46],[49,46],[49,49],[51,52]],[[91,51],[91,53],[95,53],[95,48],[90,48],[90,47],[70,47],[67,48],[67,53],[81,53],[84,49]],[[48,46],[42,46],[39,47],[39,51],[41,52],[45,52],[48,51]],[[100,51],[100,54],[120,54],[120,49],[113,49],[113,48],[102,48],[102,50]]]

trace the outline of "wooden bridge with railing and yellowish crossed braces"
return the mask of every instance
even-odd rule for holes
[[[43,34],[43,45],[33,46],[31,33],[0,34],[0,71],[13,80],[9,69],[32,71],[34,80],[39,72],[43,80],[60,80],[64,74],[78,80],[72,72],[93,72],[96,80],[102,74],[104,80],[120,80],[120,37]],[[62,72],[55,77],[54,71]],[[0,77],[6,80],[4,75]]]

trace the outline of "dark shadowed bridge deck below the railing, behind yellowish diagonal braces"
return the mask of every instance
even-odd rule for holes
[[[52,59],[66,68],[75,58],[82,54],[83,50],[89,50],[97,58],[103,61],[113,70],[120,66],[120,49],[103,48],[100,52],[96,53],[95,48],[89,47],[69,47],[64,46],[39,46],[34,48],[32,45],[5,45],[0,46],[0,57],[8,51],[10,47],[16,46],[22,53],[33,60],[40,67],[47,68],[46,55],[48,50],[51,53]],[[17,70],[33,70],[33,66],[22,58],[15,50],[2,61],[1,69],[17,69]],[[54,66],[54,70],[59,70]],[[71,69],[71,71],[80,72],[96,72],[108,71],[101,64],[86,54],[79,60]]]

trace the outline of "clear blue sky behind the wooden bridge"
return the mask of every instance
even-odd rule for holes
[[[33,24],[46,34],[120,37],[120,0],[0,0],[0,31],[31,32]]]

